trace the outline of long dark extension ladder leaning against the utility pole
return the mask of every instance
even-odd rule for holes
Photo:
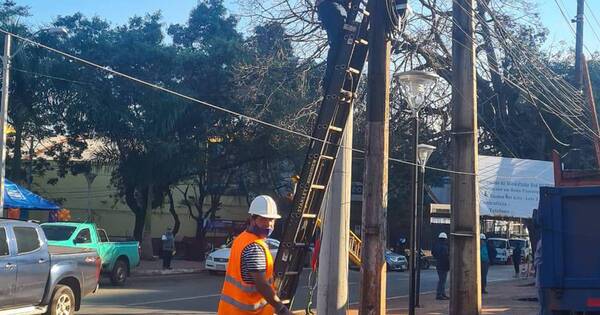
[[[366,1],[352,0],[347,12],[335,70],[326,82],[327,91],[275,258],[275,287],[282,302],[290,307],[369,50]]]

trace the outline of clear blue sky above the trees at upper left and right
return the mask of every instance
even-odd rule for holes
[[[542,22],[550,30],[549,45],[556,46],[564,41],[568,47],[573,47],[575,36],[569,30],[555,1],[566,11],[569,18],[574,17],[576,12],[576,0],[537,0]],[[167,23],[181,23],[185,22],[197,0],[16,0],[16,2],[31,8],[32,16],[27,19],[30,25],[42,27],[57,15],[69,15],[78,11],[87,16],[98,15],[115,24],[122,24],[133,15],[161,10]],[[226,1],[226,3],[233,2]],[[596,51],[600,50],[600,0],[587,0],[587,3],[586,18],[590,23],[586,23],[584,27],[584,42],[589,50]],[[592,13],[598,21],[594,19]]]

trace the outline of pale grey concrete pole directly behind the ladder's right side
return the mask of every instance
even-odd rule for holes
[[[346,315],[352,185],[352,108],[327,192],[323,239],[319,253],[317,314]]]

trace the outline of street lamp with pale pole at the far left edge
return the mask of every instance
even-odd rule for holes
[[[52,27],[38,30],[32,36],[40,33],[48,32],[51,34],[66,34],[67,30],[64,27]],[[17,51],[11,55],[12,36],[6,33],[4,36],[4,55],[2,55],[2,100],[0,102],[0,217],[4,216],[4,175],[6,173],[6,119],[8,116],[8,93],[10,87],[10,64],[11,59],[16,56],[25,45],[22,45]],[[20,149],[20,148],[17,148]]]

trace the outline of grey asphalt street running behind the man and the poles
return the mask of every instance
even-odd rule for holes
[[[298,289],[294,309],[307,305],[309,270],[303,273],[303,285]],[[408,294],[408,272],[390,272],[387,276],[387,297]],[[492,266],[488,281],[512,279],[512,266]],[[350,271],[350,303],[358,302],[360,273]],[[435,291],[435,269],[423,270],[421,290]],[[222,275],[206,273],[178,276],[131,278],[124,288],[115,288],[103,281],[100,291],[87,297],[78,314],[214,314],[223,283]],[[316,296],[316,292],[315,292]],[[316,307],[316,298],[313,300]]]

